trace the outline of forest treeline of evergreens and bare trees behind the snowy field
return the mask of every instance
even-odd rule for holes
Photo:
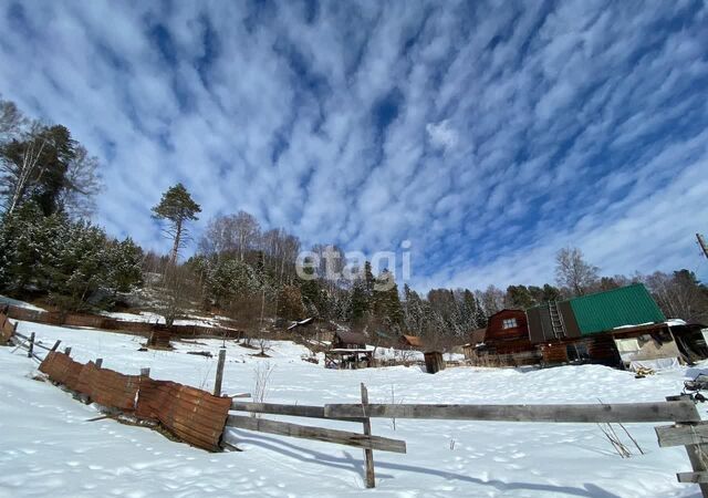
[[[125,305],[136,290],[152,289],[157,299],[150,305],[168,323],[187,311],[209,310],[252,330],[316,317],[369,333],[465,338],[503,308],[643,282],[667,317],[708,321],[708,289],[693,272],[603,277],[576,248],[558,252],[553,283],[421,294],[407,284],[399,289],[386,270],[374,274],[368,262],[354,280],[299,278],[301,250],[337,251],[342,262],[343,251],[303,248],[295,235],[263,228],[239,211],[210,219],[194,241],[195,253],[180,261],[201,210],[181,184],[152,207],[171,242],[168,255],[145,252],[131,238],[116,240],[90,222],[98,195],[100,162],[66,127],[30,120],[12,102],[0,101],[0,292],[90,311]]]

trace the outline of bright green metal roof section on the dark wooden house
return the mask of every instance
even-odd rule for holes
[[[582,335],[666,321],[643,283],[574,298],[570,303]]]

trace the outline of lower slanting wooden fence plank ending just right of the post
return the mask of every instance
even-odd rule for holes
[[[229,427],[237,427],[260,433],[277,434],[280,436],[300,437],[324,443],[354,446],[356,448],[369,448],[381,452],[406,453],[406,442],[388,439],[381,436],[364,436],[363,434],[346,430],[310,427],[305,425],[290,424],[288,422],[266,421],[241,415],[229,415],[226,423]]]

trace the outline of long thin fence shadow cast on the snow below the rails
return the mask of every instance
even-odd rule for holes
[[[354,458],[351,453],[344,450],[344,457],[336,457],[321,452],[315,452],[310,448],[278,439],[275,437],[263,436],[260,434],[247,433],[239,429],[230,429],[230,434],[236,437],[236,443],[250,443],[254,446],[268,448],[281,455],[294,458],[301,461],[323,465],[326,467],[337,468],[342,470],[348,470],[355,473],[357,476],[364,475],[364,460]],[[583,487],[572,486],[554,486],[542,483],[504,483],[498,479],[483,480],[477,477],[466,476],[464,474],[455,474],[446,470],[436,470],[427,467],[418,467],[415,465],[392,464],[387,461],[381,461],[376,458],[375,469],[377,478],[395,479],[395,476],[391,474],[382,474],[379,469],[400,470],[412,474],[426,474],[429,476],[441,477],[446,480],[459,480],[462,483],[469,483],[478,486],[491,486],[500,491],[513,491],[513,490],[529,490],[537,492],[556,492],[565,494],[569,496],[579,496],[587,498],[621,498],[620,495],[607,491],[600,486],[585,483]]]

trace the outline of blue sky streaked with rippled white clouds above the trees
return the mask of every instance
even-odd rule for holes
[[[246,210],[306,247],[396,251],[414,288],[708,278],[700,1],[0,2],[0,94],[102,163],[95,221],[166,251]],[[188,255],[185,255],[188,256]]]

